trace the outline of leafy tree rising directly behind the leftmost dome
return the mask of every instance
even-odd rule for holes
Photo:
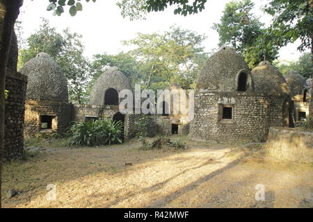
[[[22,68],[40,52],[48,53],[60,65],[67,78],[70,101],[86,103],[89,61],[83,56],[85,46],[81,38],[81,35],[71,33],[68,28],[58,33],[47,19],[42,19],[39,30],[27,39],[26,48],[20,50],[18,66]]]

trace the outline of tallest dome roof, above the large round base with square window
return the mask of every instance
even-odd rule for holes
[[[247,90],[252,90],[250,69],[234,49],[224,46],[207,60],[199,74],[196,89],[233,92],[237,90],[238,76],[247,75]]]

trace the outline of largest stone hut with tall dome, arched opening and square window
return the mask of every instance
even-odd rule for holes
[[[255,92],[262,88],[257,86],[258,80],[232,48],[223,47],[211,56],[200,72],[195,89],[191,137],[262,141],[267,138],[270,126],[282,126],[282,108],[275,107],[282,106],[284,99],[263,94],[264,88]],[[284,85],[287,87],[287,83]]]

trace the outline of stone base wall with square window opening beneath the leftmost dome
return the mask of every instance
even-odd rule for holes
[[[66,133],[73,121],[73,105],[52,101],[26,101],[24,135],[33,137],[42,133],[40,116],[54,117],[51,133]]]

